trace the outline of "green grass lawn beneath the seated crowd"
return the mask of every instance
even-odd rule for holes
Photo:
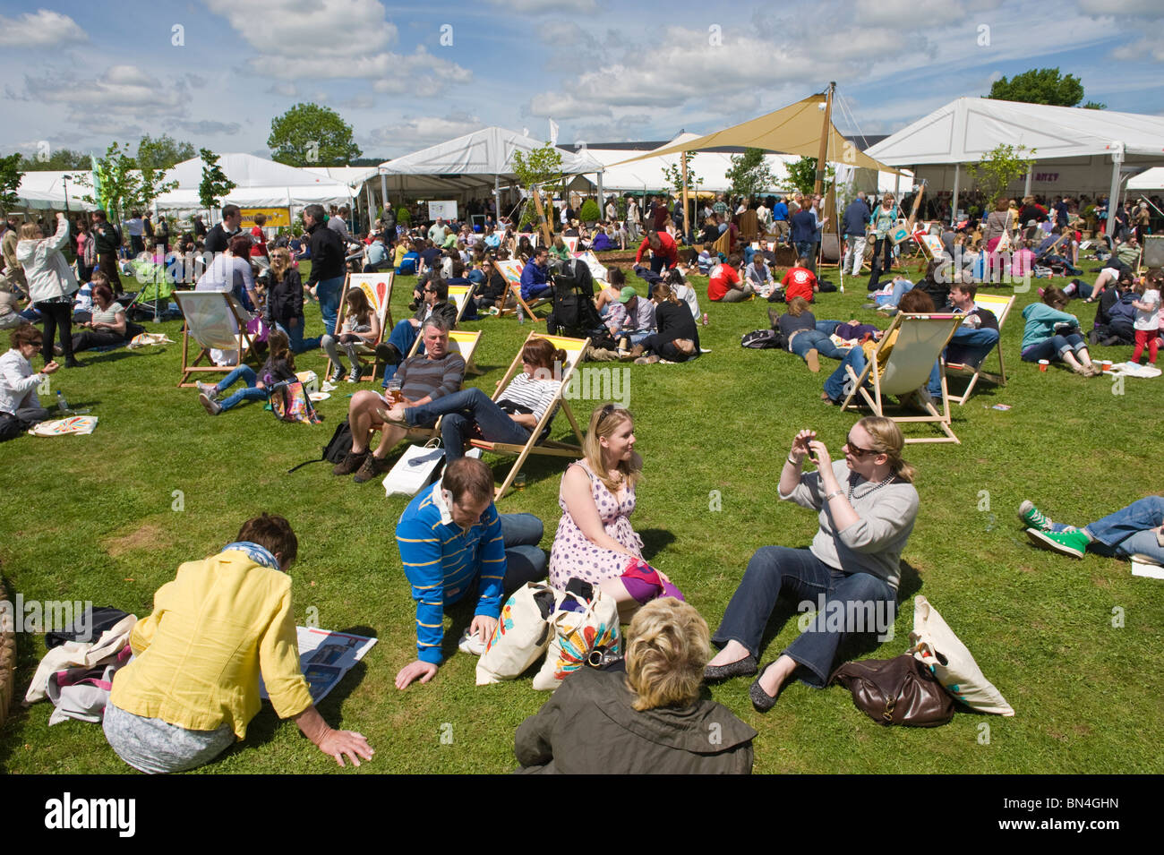
[[[836,280],[835,271],[830,276]],[[406,315],[411,282],[397,287],[397,319]],[[815,514],[776,498],[793,435],[815,428],[837,456],[857,416],[818,400],[825,373],[811,375],[788,352],[739,347],[743,333],[768,326],[767,302],[708,304],[705,279],[696,277],[694,284],[711,319],[701,336],[712,352],[688,365],[629,365],[630,407],[646,464],[633,522],[652,563],[715,629],[757,548],[808,546],[816,530]],[[873,319],[860,309],[864,279],[854,285],[845,294],[822,294],[817,318]],[[881,728],[839,687],[789,686],[766,715],[752,710],[748,681],[712,687],[717,700],[759,731],[758,772],[1164,771],[1158,746],[1164,583],[1133,577],[1127,562],[1092,555],[1074,561],[1036,550],[1015,518],[1018,503],[1031,498],[1053,519],[1081,525],[1159,491],[1151,436],[1158,430],[1164,382],[1129,379],[1123,394],[1113,394],[1110,378],[1077,377],[1056,366],[1041,373],[1020,362],[1020,313],[1035,299],[1034,291],[1020,294],[1003,330],[1008,385],[980,384],[964,407],[956,407],[953,429],[961,444],[907,448],[920,472],[922,503],[903,556],[908,567],[896,635],[858,651],[880,658],[904,653],[910,600],[924,594],[1016,715],[959,712],[936,731]],[[1076,301],[1070,311],[1091,326],[1094,307]],[[476,359],[485,375],[469,383],[491,393],[535,327],[512,318],[466,326],[485,330]],[[308,332],[318,334],[319,327],[318,308],[311,306]],[[250,515],[283,514],[299,535],[299,562],[291,569],[299,622],[315,608],[322,627],[379,639],[321,705],[333,726],[357,729],[375,747],[376,757],[360,771],[513,768],[513,731],[548,696],[535,692],[528,677],[474,685],[475,660],[449,643],[470,620],[470,607],[446,617],[453,655],[433,682],[404,692],[392,685],[397,670],[416,657],[414,607],[393,540],[407,500],[385,500],[377,482],[335,478],[329,464],[286,473],[319,455],[345,416],[353,387],[341,384],[319,405],[325,421],[314,427],[279,423],[256,404],[212,419],[193,390],[175,385],[180,323],[161,329],[179,343],[86,355],[84,369],[54,378],[71,404],[91,406],[100,416],[93,435],[21,437],[0,446],[0,562],[13,591],[26,599],[92,600],[146,615],[152,592],[179,563],[217,551]],[[1130,348],[1096,350],[1116,361],[1130,356]],[[298,363],[324,372],[321,354],[304,355]],[[836,364],[823,363],[824,371]],[[992,409],[994,404],[1013,408]],[[574,405],[583,423],[591,406]],[[562,436],[566,420],[560,418],[555,428],[554,435]],[[917,426],[907,435],[936,432]],[[499,480],[503,461],[487,461],[497,463]],[[541,516],[547,550],[560,515],[562,468],[554,458],[527,463],[527,486],[499,504],[503,513]],[[175,511],[179,490],[184,510]],[[722,510],[709,510],[712,491]],[[1113,610],[1122,614],[1122,627],[1113,626]],[[765,662],[794,637],[796,622],[769,628],[774,636]],[[35,635],[22,635],[19,644],[17,693],[23,697],[44,646]],[[14,708],[0,729],[0,767],[129,771],[99,727],[66,721],[49,729],[49,713],[48,704]],[[201,771],[335,769],[268,705],[247,741]]]

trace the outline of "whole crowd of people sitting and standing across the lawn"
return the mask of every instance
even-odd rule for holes
[[[1034,199],[1030,204],[1038,207]],[[347,373],[350,382],[359,383],[359,349],[378,344],[376,354],[388,365],[383,380],[388,394],[360,390],[352,397],[352,449],[334,473],[353,475],[357,483],[371,479],[384,470],[389,453],[402,439],[417,429],[434,428],[438,420],[446,449],[442,475],[420,490],[396,527],[417,626],[417,657],[396,675],[397,689],[428,683],[439,674],[447,647],[443,625],[448,606],[462,600],[473,605],[461,649],[480,654],[497,629],[503,603],[524,584],[545,579],[559,591],[601,591],[617,604],[620,619],[630,622],[624,656],[601,668],[582,668],[518,728],[516,755],[523,770],[747,772],[755,731],[722,705],[701,699],[701,685],[754,676],[750,697],[757,711],[767,712],[794,678],[816,687],[826,685],[847,640],[892,627],[900,561],[920,507],[916,471],[903,459],[900,428],[881,416],[859,420],[845,437],[843,459],[838,461],[815,430],[795,434],[780,471],[778,496],[817,512],[817,533],[804,549],[759,547],[719,627],[710,633],[676,584],[645,564],[651,556],[631,522],[643,458],[636,451],[634,418],[625,407],[606,404],[591,413],[582,457],[561,477],[561,515],[548,556],[539,546],[545,533],[541,519],[498,513],[491,470],[464,456],[464,448],[471,439],[528,441],[561,392],[553,366],[565,354],[546,339],[531,340],[520,356],[523,370],[496,401],[478,389],[462,389],[466,362],[449,349],[449,332],[459,314],[448,299],[448,287],[470,285],[475,312],[504,307],[509,284],[497,265],[512,254],[521,264],[523,300],[553,297],[561,287],[561,276],[587,280],[577,276],[579,261],[561,237],[577,237],[579,247],[585,247],[588,240],[594,245],[604,236],[610,245],[638,243],[632,271],[645,282],[648,297],[626,284],[622,269],[603,271],[604,284],[597,293],[591,290],[587,294],[598,325],[588,330],[599,342],[591,350],[592,358],[679,363],[697,357],[701,320],[705,322],[705,318],[688,277],[701,271],[709,277],[711,301],[738,302],[760,295],[786,306],[783,314],[775,308],[769,312],[786,349],[814,372],[819,371],[822,356],[839,363],[824,382],[822,398],[826,401],[837,402],[850,391],[851,377],[861,375],[874,352],[874,370],[883,368],[894,341],[883,341],[882,330],[871,325],[817,319],[814,307],[821,282],[816,244],[826,225],[818,199],[771,197],[753,204],[719,197],[698,212],[707,214],[703,236],[712,238],[707,242],[718,242],[726,234],[731,244],[738,218],[754,211],[765,238],[797,252],[796,263],[779,283],[775,259],[767,255],[771,250],[743,244],[729,245],[728,254],[680,249],[682,212],[676,219],[662,198],[645,211],[633,198],[627,200],[625,213],[619,207],[615,200],[608,201],[603,208],[608,220],[595,231],[587,231],[573,211],[563,209],[561,234],[549,247],[514,240],[511,222],[494,225],[488,215],[481,231],[440,219],[414,229],[383,220],[359,241],[361,249],[354,254],[357,241],[350,240],[346,212],[328,216],[320,206],[308,206],[304,212],[306,240],[299,245],[290,240],[285,245],[277,241],[269,245],[261,222],[256,220],[257,234],[246,234],[239,228],[239,209],[226,206],[220,223],[205,229],[205,235],[196,235],[215,252],[196,287],[229,292],[240,306],[262,316],[270,328],[268,358],[257,373],[242,365],[218,384],[198,384],[199,400],[214,415],[246,400],[262,400],[272,385],[294,376],[297,354],[314,349],[328,356],[333,366],[329,380],[339,382]],[[893,282],[892,302],[885,304],[889,313],[946,311],[963,315],[964,323],[947,345],[949,361],[978,364],[998,345],[998,319],[974,305],[977,288],[984,278],[989,283],[989,272],[1000,263],[998,243],[1017,240],[1009,237],[1017,221],[1029,215],[1038,228],[1038,218],[1028,207],[1018,211],[1017,219],[1010,218],[1008,204],[993,212],[973,236],[977,223],[951,229],[949,235],[939,228],[936,236],[947,251],[932,259],[916,286],[901,276]],[[1058,206],[1055,212],[1057,216]],[[1003,222],[995,213],[1008,219]],[[64,366],[72,368],[78,364],[74,354],[123,343],[132,332],[118,299],[116,249],[109,249],[109,242],[120,243],[121,237],[104,214],[98,214],[91,228],[74,236],[76,272],[61,252],[71,234],[64,216],[51,236],[40,225],[20,229],[13,247],[20,269],[9,263],[5,278],[13,283],[19,272],[43,333],[29,322],[34,316],[24,316],[19,307],[5,313],[20,320],[7,325],[13,327],[12,349],[0,357],[0,439],[16,436],[49,418],[35,389],[61,368],[54,359],[58,334]],[[900,218],[901,209],[888,195],[873,208],[861,195],[844,211],[842,222],[849,241],[843,263],[859,272],[866,255],[861,244],[871,244],[871,291],[895,263],[890,231]],[[130,218],[126,222],[130,245],[147,251],[146,241],[158,238],[159,226],[150,223],[148,216]],[[111,229],[113,236],[108,235]],[[992,234],[995,229],[999,234]],[[1032,258],[1017,250],[1006,263],[1025,272],[1046,261],[1050,252],[1066,265],[1077,264],[1078,241],[1064,240],[1071,229],[1070,220],[1056,222]],[[1052,237],[1050,247],[1044,247]],[[978,256],[966,264],[966,256],[958,250],[968,240],[973,241],[968,254],[978,251]],[[1034,240],[1023,237],[1023,245]],[[7,235],[3,241],[7,258]],[[1064,312],[1073,295],[1099,301],[1093,339],[1100,339],[1101,344],[1112,340],[1134,343],[1135,359],[1147,351],[1155,362],[1164,278],[1159,271],[1136,277],[1128,269],[1138,262],[1129,251],[1137,241],[1130,229],[1116,236],[1105,258],[1110,266],[1094,287],[1078,283],[1069,293],[1049,286],[1041,301],[1024,308],[1024,361],[1062,359],[1080,373],[1098,373],[1078,319]],[[982,248],[975,250],[979,244]],[[311,272],[304,282],[298,261],[308,257]],[[402,275],[416,273],[414,315],[390,332],[382,330],[372,307],[356,291],[340,319],[340,291],[353,261],[363,270],[392,266]],[[76,313],[81,290],[78,275],[85,279],[88,300],[83,320]],[[306,336],[307,299],[320,302],[324,330],[319,336]],[[0,307],[5,305],[10,304],[0,302]],[[1123,311],[1126,305],[1130,315]],[[81,328],[76,335],[71,334],[73,323]],[[856,345],[840,347],[838,341]],[[37,352],[44,363],[40,372],[31,365]],[[939,364],[935,364],[929,385],[917,392],[921,400],[941,394],[938,371]],[[222,397],[240,382],[241,389]],[[376,430],[381,436],[372,448]],[[809,462],[811,470],[807,470]],[[1158,497],[1080,528],[1052,522],[1029,501],[1020,508],[1020,516],[1030,526],[1032,542],[1065,555],[1081,557],[1092,549],[1102,555],[1164,560],[1164,500]],[[263,514],[248,520],[217,555],[183,564],[176,578],[156,592],[154,613],[133,633],[134,660],[118,674],[105,717],[108,742],[127,763],[142,771],[168,772],[211,762],[246,736],[247,725],[260,708],[260,675],[276,713],[294,719],[338,763],[347,760],[359,765],[372,756],[361,734],[327,725],[311,703],[299,671],[286,576],[297,549],[290,523]],[[762,640],[776,600],[788,593],[802,600],[839,603],[850,620],[837,627],[821,610],[794,642],[761,668]],[[863,612],[853,605],[867,608]],[[853,624],[852,615],[861,613],[876,620]],[[175,679],[179,672],[180,678]],[[705,729],[708,722],[721,725],[723,734],[710,747],[707,740],[689,738],[693,728]]]

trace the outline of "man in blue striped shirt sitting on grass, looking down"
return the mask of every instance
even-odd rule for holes
[[[505,598],[546,576],[541,534],[533,514],[497,513],[492,470],[474,457],[449,463],[440,480],[409,503],[396,543],[417,603],[417,660],[397,672],[397,689],[435,676],[445,658],[445,606],[466,597],[477,605],[461,649],[484,653]]]

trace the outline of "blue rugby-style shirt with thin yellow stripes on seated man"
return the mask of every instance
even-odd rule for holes
[[[468,532],[453,521],[441,498],[442,482],[425,487],[409,503],[396,526],[404,575],[417,601],[417,657],[441,663],[445,605],[477,584],[474,614],[497,618],[505,580],[502,521],[492,503]]]

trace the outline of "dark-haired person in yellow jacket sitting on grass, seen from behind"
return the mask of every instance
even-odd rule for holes
[[[210,763],[247,738],[262,676],[275,712],[294,719],[319,750],[340,765],[371,760],[367,739],[332,729],[312,704],[286,575],[298,549],[291,525],[264,513],[155,592],[105,707],[105,738],[119,757],[149,774]]]

